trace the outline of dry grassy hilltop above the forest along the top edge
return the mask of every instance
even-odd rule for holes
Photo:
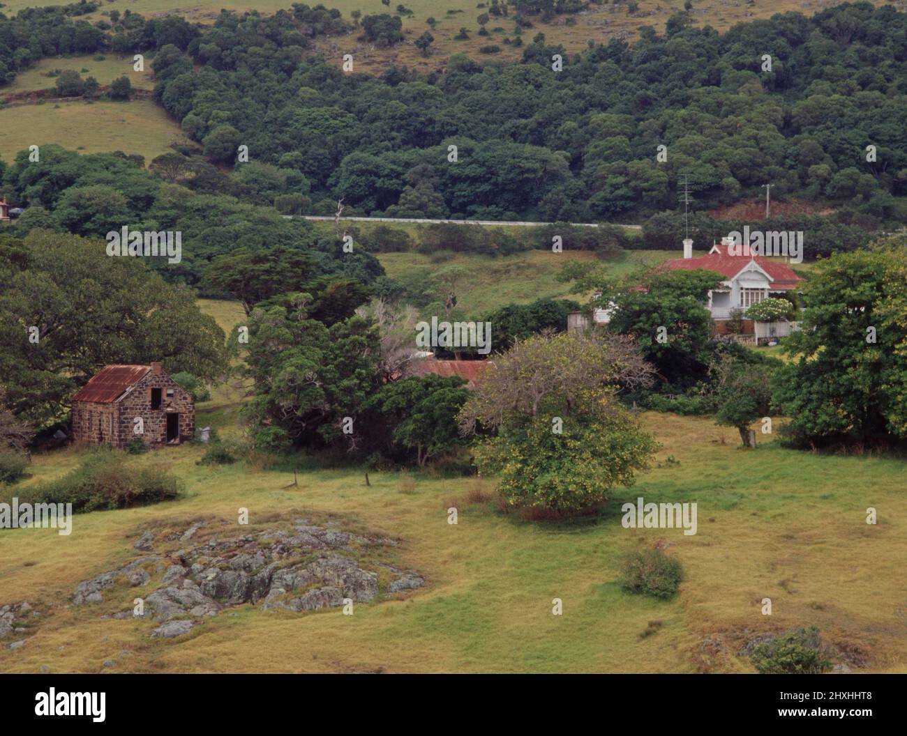
[[[24,7],[56,4],[56,0],[9,0],[4,12],[11,14]],[[280,9],[288,9],[290,5],[289,0],[200,0],[188,5],[182,0],[114,0],[112,3],[103,3],[96,13],[88,17],[100,20],[114,9],[121,13],[129,9],[146,17],[176,14],[200,23],[212,23],[221,8],[239,12],[255,9],[262,14],[271,14]],[[350,13],[354,10],[360,10],[363,15],[388,12],[388,8],[378,0],[327,0],[324,5],[340,10],[346,20],[350,20]],[[392,1],[390,12],[393,13],[397,5]],[[355,33],[346,37],[317,40],[317,51],[325,53],[329,59],[336,59],[338,66],[342,63],[344,53],[354,53],[357,70],[369,73],[381,73],[389,63],[434,69],[443,64],[447,56],[456,52],[483,58],[522,57],[522,48],[503,43],[504,38],[513,37],[512,13],[509,17],[492,18],[486,25],[489,34],[480,36],[476,18],[487,12],[487,7],[477,7],[480,4],[476,0],[448,0],[443,5],[439,5],[436,0],[407,0],[402,5],[413,11],[413,15],[403,16],[406,35],[404,44],[386,50],[370,48],[370,44],[357,41],[361,33],[356,29]],[[569,16],[566,15],[557,16],[550,23],[532,18],[533,27],[523,30],[523,43],[531,42],[532,37],[541,32],[550,43],[562,44],[568,51],[576,52],[584,48],[590,39],[604,43],[615,37],[633,39],[643,25],[651,25],[662,32],[668,17],[683,10],[683,0],[639,0],[638,5],[639,9],[634,15],[629,15],[625,2],[603,0],[600,4],[590,4],[586,12],[573,16],[572,21],[568,21]],[[797,11],[812,15],[829,5],[836,4],[824,0],[755,0],[752,5],[748,5],[746,0],[697,0],[693,5],[692,16],[697,25],[709,24],[724,31],[734,24],[768,18],[775,13]],[[434,28],[426,23],[429,17],[434,17],[437,21]],[[569,22],[573,24],[569,25]],[[461,27],[468,29],[469,40],[454,38]],[[414,40],[426,30],[430,30],[435,39],[434,54],[428,58],[414,46]],[[494,54],[479,52],[481,47],[488,45],[497,45],[501,51]]]

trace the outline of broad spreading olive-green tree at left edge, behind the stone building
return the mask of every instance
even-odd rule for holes
[[[36,422],[59,418],[106,363],[161,361],[207,380],[225,367],[223,331],[190,289],[108,257],[102,240],[40,230],[0,243],[0,343],[7,401]]]

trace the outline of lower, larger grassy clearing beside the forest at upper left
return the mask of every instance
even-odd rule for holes
[[[0,110],[0,157],[7,162],[31,145],[59,143],[82,153],[140,153],[148,164],[170,150],[182,131],[150,100],[29,104]]]

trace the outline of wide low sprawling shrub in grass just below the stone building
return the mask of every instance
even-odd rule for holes
[[[19,495],[27,496],[31,503],[71,503],[73,511],[95,511],[175,499],[180,495],[180,481],[156,468],[133,468],[116,450],[93,450],[79,468],[63,478]]]

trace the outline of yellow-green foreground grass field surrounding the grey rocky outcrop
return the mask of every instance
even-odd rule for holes
[[[199,423],[206,423],[204,412]],[[288,472],[245,465],[199,466],[190,446],[142,456],[186,483],[183,498],[158,506],[77,516],[73,534],[54,529],[0,532],[0,603],[28,600],[44,611],[16,652],[0,649],[0,671],[114,672],[751,672],[736,653],[747,635],[820,626],[862,657],[865,671],[907,669],[907,636],[895,611],[907,604],[893,584],[907,566],[907,479],[903,462],[830,457],[775,443],[736,448],[734,432],[711,421],[646,414],[663,448],[635,489],[619,489],[599,517],[530,523],[493,502],[470,504],[487,480],[415,476],[411,492],[396,473]],[[668,458],[672,460],[668,460]],[[72,468],[76,450],[36,456],[31,484]],[[698,533],[626,529],[620,504],[696,501]],[[446,509],[460,511],[446,523]],[[879,509],[867,526],[864,509]],[[245,605],[172,641],[151,639],[151,622],[102,619],[107,603],[73,606],[76,584],[137,557],[142,525],[235,519],[249,528],[277,515],[329,515],[344,526],[399,537],[402,564],[426,586],[404,599],[303,615]],[[668,544],[686,570],[680,593],[658,602],[629,596],[616,578],[621,556]],[[763,597],[773,615],[760,612]],[[551,599],[563,615],[551,615]],[[122,600],[121,600],[122,599]],[[661,622],[654,635],[640,634]],[[128,654],[122,654],[127,652]]]

